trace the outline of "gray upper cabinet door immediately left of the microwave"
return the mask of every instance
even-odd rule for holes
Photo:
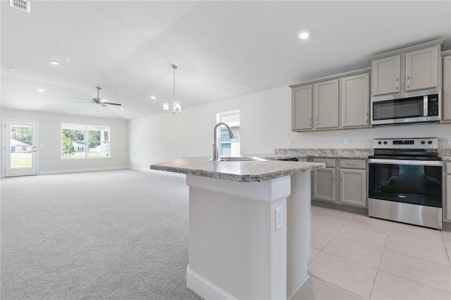
[[[369,73],[340,79],[341,126],[369,125]]]

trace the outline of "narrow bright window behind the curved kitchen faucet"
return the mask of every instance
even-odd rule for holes
[[[226,111],[216,114],[216,122],[223,122],[232,129],[233,139],[228,136],[225,126],[220,126],[218,154],[219,156],[240,156],[240,111]]]

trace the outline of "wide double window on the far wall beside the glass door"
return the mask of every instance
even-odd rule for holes
[[[61,158],[108,158],[110,127],[61,124]]]

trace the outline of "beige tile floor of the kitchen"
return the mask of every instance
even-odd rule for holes
[[[311,207],[309,280],[293,299],[451,299],[451,232]]]

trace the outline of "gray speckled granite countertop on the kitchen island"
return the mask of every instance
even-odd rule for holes
[[[261,156],[260,156],[261,157]],[[326,168],[325,163],[298,161],[209,161],[209,156],[177,158],[150,165],[153,170],[236,182],[262,182],[295,173]]]

